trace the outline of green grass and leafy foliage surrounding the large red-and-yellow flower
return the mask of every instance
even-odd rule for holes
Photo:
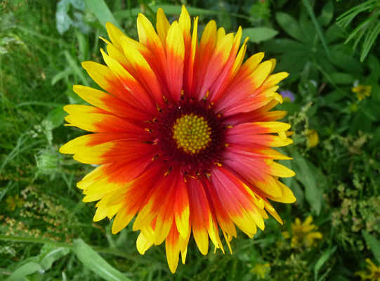
[[[283,226],[270,218],[254,240],[239,233],[233,255],[202,256],[190,240],[172,275],[164,244],[140,256],[131,224],[112,235],[92,221],[75,183],[93,167],[58,149],[83,134],[63,126],[62,107],[84,104],[72,86],[93,85],[80,63],[103,63],[105,22],[136,39],[138,13],[155,22],[162,7],[173,21],[181,4],[200,30],[241,25],[247,57],[266,51],[290,73],[280,90],[295,99],[277,107],[295,131],[282,164],[296,171],[284,181],[297,202],[276,204]],[[366,258],[380,264],[379,15],[377,0],[1,1],[0,280],[359,280]],[[313,244],[291,228],[309,215],[322,234]]]

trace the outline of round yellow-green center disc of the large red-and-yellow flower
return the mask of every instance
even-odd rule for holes
[[[211,141],[211,128],[204,117],[191,113],[182,115],[173,126],[173,138],[176,140],[177,148],[189,154],[198,153],[207,148]]]

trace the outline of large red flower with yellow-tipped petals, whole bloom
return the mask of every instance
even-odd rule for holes
[[[185,263],[190,233],[202,254],[209,237],[224,252],[220,232],[230,248],[235,226],[254,237],[267,212],[282,223],[268,200],[296,201],[278,179],[294,172],[273,162],[290,158],[270,148],[292,143],[290,125],[275,121],[286,112],[269,111],[288,74],[272,74],[275,60],[261,63],[263,53],[242,64],[241,28],[225,34],[211,21],[198,44],[197,22],[191,36],[184,6],[172,24],[159,9],[156,33],[140,14],[139,41],[107,23],[107,66],[82,64],[107,93],[74,86],[94,106],[65,107],[69,126],[93,133],[60,148],[101,165],[78,183],[84,202],[100,200],[93,220],[116,215],[118,233],[137,214],[138,251],[165,241],[173,273],[180,251]]]

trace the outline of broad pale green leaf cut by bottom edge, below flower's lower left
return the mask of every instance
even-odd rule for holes
[[[74,240],[74,253],[86,268],[92,270],[107,281],[131,281],[119,270],[110,266],[96,251],[83,240]]]

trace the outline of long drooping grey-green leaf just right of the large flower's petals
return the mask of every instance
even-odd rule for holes
[[[308,162],[298,152],[292,152],[293,170],[296,180],[301,182],[305,188],[306,201],[310,204],[315,214],[319,215],[322,208],[322,195],[317,188],[315,175],[310,170]]]

